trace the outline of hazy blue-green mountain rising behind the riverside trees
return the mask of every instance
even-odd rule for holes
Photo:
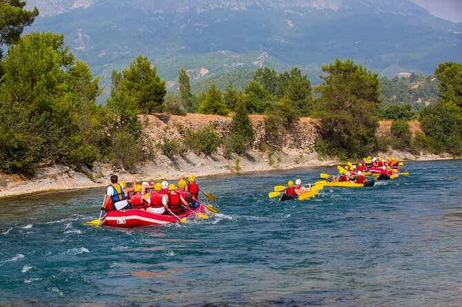
[[[319,81],[323,63],[351,58],[385,76],[432,74],[462,61],[462,24],[405,0],[29,0],[32,30],[66,35],[103,78],[138,54],[173,85],[179,67],[203,78],[268,65]]]

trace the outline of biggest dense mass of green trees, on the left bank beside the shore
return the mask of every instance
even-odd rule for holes
[[[18,65],[21,63],[21,65]],[[63,35],[32,32],[11,45],[0,85],[0,170],[44,162],[91,166],[106,142],[98,78],[63,47]]]

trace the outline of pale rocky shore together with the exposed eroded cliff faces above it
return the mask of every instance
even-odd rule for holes
[[[145,116],[145,133],[148,140],[155,146],[161,142],[161,136],[168,131],[172,137],[181,138],[181,129],[198,129],[214,122],[215,129],[220,136],[227,133],[231,118],[223,116],[208,116],[188,114],[188,116],[165,116],[163,114]],[[157,157],[143,163],[136,173],[128,173],[120,169],[113,169],[107,165],[97,165],[87,174],[74,171],[70,167],[54,165],[37,172],[27,178],[18,175],[0,173],[0,198],[13,195],[39,193],[42,191],[56,191],[68,189],[86,189],[105,187],[109,177],[116,173],[121,180],[131,182],[150,180],[177,180],[181,175],[194,173],[197,177],[223,175],[231,173],[248,173],[253,171],[270,171],[274,169],[294,169],[299,167],[314,167],[323,165],[337,165],[337,160],[321,160],[313,149],[314,140],[319,137],[317,120],[301,118],[294,132],[279,140],[279,144],[272,144],[279,151],[261,152],[259,145],[265,140],[263,116],[251,116],[255,130],[254,149],[245,156],[232,155],[224,157],[221,150],[212,156],[189,153],[181,158],[167,158],[158,153]],[[388,128],[387,123],[381,125],[379,131],[383,133]],[[417,127],[418,129],[418,127]],[[401,151],[390,151],[383,156],[395,156],[399,160],[441,160],[450,159],[449,155],[414,156]]]

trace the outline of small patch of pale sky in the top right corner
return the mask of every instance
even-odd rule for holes
[[[410,0],[430,14],[454,22],[462,22],[462,0]]]

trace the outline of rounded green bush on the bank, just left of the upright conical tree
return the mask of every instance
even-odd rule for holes
[[[210,155],[217,151],[220,137],[214,129],[214,123],[198,131],[186,130],[185,145],[195,154]]]

